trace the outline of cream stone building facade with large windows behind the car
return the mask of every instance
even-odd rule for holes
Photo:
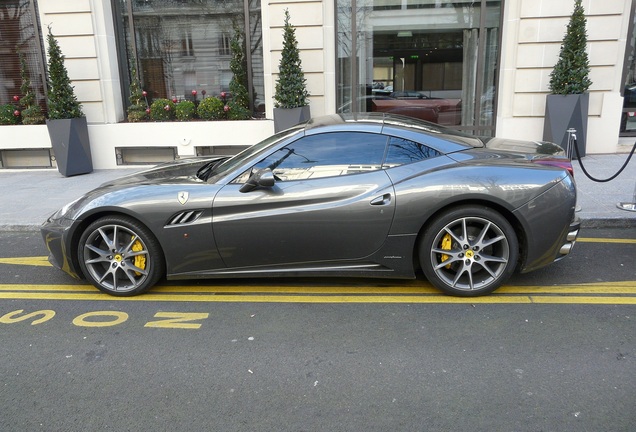
[[[616,153],[636,136],[636,0],[582,4],[593,83],[587,153]],[[573,8],[574,0],[0,0],[0,105],[18,104],[21,53],[46,109],[50,29],[89,123],[95,168],[233,154],[273,133],[289,10],[312,115],[394,112],[541,140]],[[246,41],[253,120],[126,121],[133,67],[149,105],[227,94],[236,34]],[[2,168],[54,166],[50,147],[44,125],[0,126]]]

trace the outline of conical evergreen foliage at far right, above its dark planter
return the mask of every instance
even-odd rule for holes
[[[553,94],[579,94],[590,88],[592,81],[589,78],[590,64],[586,48],[585,11],[581,0],[575,0],[559,60],[550,73],[550,91]]]

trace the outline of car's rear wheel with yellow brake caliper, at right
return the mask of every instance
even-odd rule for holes
[[[426,228],[419,245],[426,278],[454,296],[490,294],[512,275],[518,257],[519,241],[510,223],[482,206],[441,214]]]

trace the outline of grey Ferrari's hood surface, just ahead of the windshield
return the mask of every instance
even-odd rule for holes
[[[101,188],[149,184],[201,183],[197,171],[202,166],[226,157],[188,158],[157,165],[102,184]]]

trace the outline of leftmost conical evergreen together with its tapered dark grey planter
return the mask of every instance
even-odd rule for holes
[[[51,138],[57,169],[65,177],[87,174],[93,171],[88,127],[82,107],[77,101],[64,55],[51,33],[47,35],[49,118],[46,126]]]

